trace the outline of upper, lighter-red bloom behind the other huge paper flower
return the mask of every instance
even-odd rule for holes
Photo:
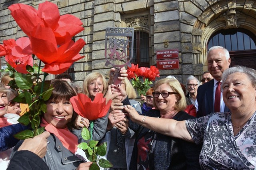
[[[82,22],[75,16],[70,14],[60,16],[58,6],[52,2],[39,4],[38,10],[24,4],[13,4],[9,6],[9,10],[26,35],[30,37],[35,31],[34,27],[43,25],[52,29],[58,45],[65,42],[66,33],[73,37],[84,30],[81,26]]]

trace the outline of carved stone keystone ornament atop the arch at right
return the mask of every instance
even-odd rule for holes
[[[241,15],[242,13],[239,11],[236,12],[235,9],[228,10],[220,15],[219,18],[226,21],[226,26],[223,29],[238,28],[239,25],[237,25],[237,19]]]

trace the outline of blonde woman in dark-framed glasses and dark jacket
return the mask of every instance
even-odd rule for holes
[[[144,121],[147,117],[174,120],[193,118],[182,111],[186,107],[186,99],[180,83],[173,78],[158,80],[155,83],[152,95],[156,109],[151,109],[145,115],[141,115],[142,119],[137,122],[139,124],[129,121],[129,127],[136,132],[130,170],[200,169],[198,162],[200,146],[174,137],[161,135],[144,127]],[[138,115],[137,111],[130,106],[128,108],[125,107],[125,110],[128,111],[134,121],[134,117]],[[166,126],[166,124],[161,124],[161,126]]]

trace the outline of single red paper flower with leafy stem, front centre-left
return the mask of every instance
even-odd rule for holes
[[[82,138],[86,141],[90,139],[90,141],[89,143],[82,142],[78,145],[78,148],[84,150],[86,157],[93,162],[90,166],[90,170],[98,170],[100,169],[99,166],[102,168],[112,167],[113,165],[108,160],[104,158],[99,159],[99,156],[105,156],[107,152],[107,143],[104,142],[98,145],[99,141],[92,140],[94,120],[104,117],[106,113],[108,113],[112,101],[109,100],[106,104],[106,98],[103,98],[103,94],[99,93],[96,94],[93,102],[85,94],[78,94],[77,96],[72,97],[70,102],[78,115],[90,120],[90,131],[86,127],[83,127],[82,129]]]

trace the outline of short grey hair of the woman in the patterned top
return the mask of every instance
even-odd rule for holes
[[[245,66],[233,66],[233,67],[226,69],[222,74],[222,82],[225,82],[227,77],[230,74],[233,74],[236,72],[246,74],[248,76],[250,82],[252,83],[252,86],[256,87],[256,70],[249,68],[249,67],[245,67]],[[223,83],[221,84],[221,89],[223,89],[222,85],[223,85]]]

